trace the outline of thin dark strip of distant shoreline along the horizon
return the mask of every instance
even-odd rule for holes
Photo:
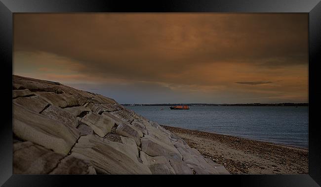
[[[246,104],[207,104],[207,103],[163,103],[163,104],[121,104],[123,106],[309,106],[309,103],[246,103]]]

